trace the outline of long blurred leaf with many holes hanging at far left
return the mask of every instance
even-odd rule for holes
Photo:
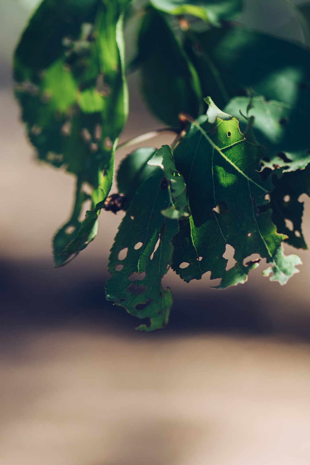
[[[38,158],[77,177],[73,213],[53,241],[57,266],[95,235],[93,221],[91,226],[88,218],[79,221],[85,190],[92,191],[94,207],[112,185],[114,149],[128,106],[124,7],[125,1],[64,0],[56,5],[45,0],[14,55],[15,95]],[[94,212],[97,216],[99,207]]]

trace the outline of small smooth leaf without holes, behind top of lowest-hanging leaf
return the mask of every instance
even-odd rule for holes
[[[147,162],[156,150],[155,147],[137,148],[122,160],[117,172],[117,185],[119,192],[125,194],[127,204],[131,202],[142,182],[154,171]]]

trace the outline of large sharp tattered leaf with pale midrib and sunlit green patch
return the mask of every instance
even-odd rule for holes
[[[194,121],[174,157],[184,173],[191,208],[174,240],[172,268],[182,279],[201,279],[211,271],[211,279],[222,279],[218,287],[243,283],[258,266],[251,260],[253,253],[270,264],[264,273],[273,272],[270,280],[285,284],[298,272],[301,261],[284,255],[286,236],[277,233],[271,211],[259,212],[272,185],[261,180],[259,147],[244,138],[235,118],[218,118],[213,124],[208,116]],[[236,260],[229,270],[223,258],[227,244],[235,249]]]

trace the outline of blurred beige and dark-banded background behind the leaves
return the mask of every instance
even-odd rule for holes
[[[103,212],[96,240],[53,268],[51,238],[74,180],[35,160],[11,80],[13,48],[37,4],[0,1],[0,464],[309,465],[309,252],[298,252],[300,273],[283,287],[262,276],[265,263],[224,291],[210,289],[210,273],[185,284],[168,272],[170,323],[152,334],[135,332],[139,321],[104,297],[121,213]],[[240,21],[303,41],[284,0],[248,0]],[[132,25],[129,53],[134,34]],[[161,127],[138,80],[129,78],[121,141]]]

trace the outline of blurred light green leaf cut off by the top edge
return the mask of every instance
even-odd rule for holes
[[[166,13],[191,14],[214,26],[232,20],[242,11],[243,0],[152,0],[154,7]]]

